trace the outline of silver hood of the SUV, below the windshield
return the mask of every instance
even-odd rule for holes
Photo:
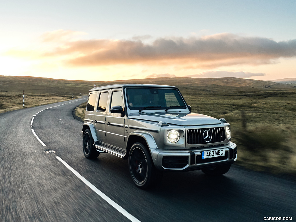
[[[221,124],[220,120],[198,113],[176,113],[176,112],[142,112],[131,113],[128,118],[146,120],[153,122],[165,121],[168,124],[179,126],[198,126]]]

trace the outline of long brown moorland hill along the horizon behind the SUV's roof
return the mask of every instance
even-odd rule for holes
[[[218,91],[241,91],[244,89],[289,89],[281,83],[270,81],[258,81],[252,79],[241,79],[234,77],[227,78],[148,78],[118,81],[78,81],[63,80],[29,76],[3,76],[0,75],[0,92],[25,92],[29,93],[54,93],[59,95],[88,94],[89,89],[96,86],[104,86],[118,83],[148,83],[173,85],[180,89],[192,89],[197,91],[218,92]]]

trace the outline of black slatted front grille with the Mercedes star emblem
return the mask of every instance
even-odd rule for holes
[[[225,139],[224,127],[187,130],[187,144],[218,143],[225,141]]]

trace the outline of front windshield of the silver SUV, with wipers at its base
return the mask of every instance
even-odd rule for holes
[[[177,89],[128,88],[126,95],[131,110],[186,109]]]

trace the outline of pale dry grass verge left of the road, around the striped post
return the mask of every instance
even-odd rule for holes
[[[73,96],[73,99],[76,98]],[[51,104],[70,100],[71,96],[61,96],[48,93],[28,93],[25,94],[25,108]],[[22,93],[0,93],[0,113],[23,108]]]

